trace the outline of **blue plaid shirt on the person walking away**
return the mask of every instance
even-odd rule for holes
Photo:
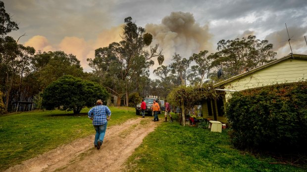
[[[111,116],[111,110],[102,104],[99,104],[93,108],[88,113],[89,118],[93,119],[93,125],[103,125],[106,123],[106,117]]]

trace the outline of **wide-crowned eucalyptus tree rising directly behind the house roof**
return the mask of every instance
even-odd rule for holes
[[[248,69],[254,69],[274,60],[276,52],[268,40],[256,39],[255,35],[234,40],[220,40],[217,43],[218,52],[208,56],[212,60],[211,70],[223,69],[225,78],[240,74]]]

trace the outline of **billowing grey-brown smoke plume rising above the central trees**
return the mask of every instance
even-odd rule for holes
[[[163,49],[164,64],[169,64],[175,52],[189,58],[193,53],[212,49],[208,25],[200,26],[189,12],[172,12],[161,24],[147,24],[145,28],[153,34],[152,45],[159,44]]]

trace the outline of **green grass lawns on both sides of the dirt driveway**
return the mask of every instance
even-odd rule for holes
[[[108,127],[119,125],[135,115],[131,107],[110,107]],[[87,117],[52,110],[0,116],[0,171],[77,138],[95,134]],[[175,116],[175,115],[173,115]],[[159,120],[164,120],[163,114]],[[275,159],[253,156],[232,148],[227,132],[183,127],[162,122],[144,138],[126,162],[128,172],[306,172]]]

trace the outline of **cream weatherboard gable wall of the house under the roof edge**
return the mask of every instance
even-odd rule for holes
[[[257,70],[242,78],[224,84],[224,89],[246,90],[267,85],[298,82],[307,79],[307,61],[304,59],[287,59],[264,69]],[[226,100],[231,92],[226,92]]]

